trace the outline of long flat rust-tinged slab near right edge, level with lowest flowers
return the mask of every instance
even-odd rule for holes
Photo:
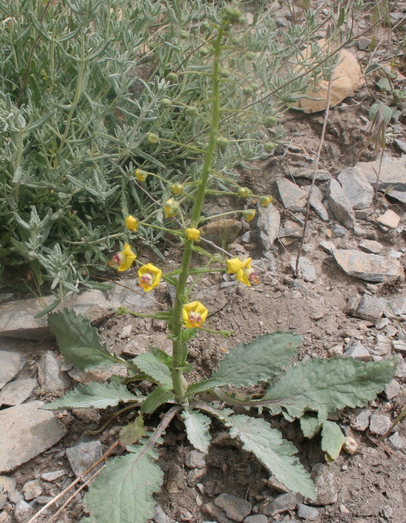
[[[356,249],[334,249],[333,256],[345,274],[366,281],[381,282],[403,275],[400,261],[394,258],[362,253]]]

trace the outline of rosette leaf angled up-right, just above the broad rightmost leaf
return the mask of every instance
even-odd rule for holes
[[[291,333],[258,336],[249,344],[242,343],[230,349],[212,377],[237,386],[268,381],[289,365],[299,343],[300,337]]]

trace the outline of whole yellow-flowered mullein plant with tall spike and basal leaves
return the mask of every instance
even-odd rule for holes
[[[346,445],[346,438],[340,427],[329,419],[329,414],[345,407],[362,406],[375,399],[394,373],[394,363],[389,359],[365,363],[351,358],[314,358],[305,363],[293,363],[300,337],[276,332],[234,346],[208,379],[188,382],[187,374],[193,366],[188,361],[187,343],[197,333],[217,332],[209,328],[205,304],[194,300],[191,295],[199,276],[205,272],[226,271],[235,275],[241,285],[251,287],[260,283],[260,274],[252,266],[251,258],[230,256],[222,260],[206,252],[202,247],[204,234],[200,229],[205,221],[201,216],[202,203],[207,194],[212,194],[208,180],[212,175],[213,158],[219,150],[232,146],[232,140],[225,139],[219,132],[220,84],[224,76],[221,50],[228,46],[232,27],[240,21],[238,8],[224,7],[221,21],[211,26],[213,38],[202,48],[211,57],[210,127],[201,151],[200,176],[191,184],[194,203],[190,214],[185,210],[189,201],[185,197],[187,184],[171,184],[172,195],[168,194],[162,202],[162,210],[169,223],[178,220],[177,228],[165,226],[165,222],[162,225],[149,224],[149,217],[129,214],[125,218],[126,229],[130,231],[129,241],[111,259],[111,266],[120,272],[138,264],[139,286],[145,292],[159,287],[161,281],[176,287],[173,307],[168,311],[152,314],[125,308],[118,311],[119,314],[167,321],[172,355],[151,347],[149,353],[127,361],[100,343],[96,329],[85,317],[67,309],[48,315],[51,331],[67,362],[83,370],[118,364],[128,369],[128,378],[115,376],[110,382],[80,384],[43,408],[119,406],[116,416],[130,408],[137,412],[135,419],[119,434],[121,448],[127,453],[109,459],[84,496],[88,516],[83,518],[83,523],[143,523],[153,516],[153,494],[160,491],[164,481],[164,473],[157,463],[157,448],[175,417],[183,421],[191,447],[205,454],[210,447],[210,425],[212,419],[216,419],[228,429],[230,437],[238,440],[243,450],[253,453],[276,480],[289,490],[314,500],[317,493],[308,470],[296,456],[297,449],[264,419],[261,412],[266,410],[269,416],[281,416],[288,422],[298,419],[304,436],[308,438],[320,433],[326,459],[332,461]],[[149,135],[148,139],[155,143],[160,141],[156,133]],[[135,176],[140,183],[145,183],[154,174],[138,171]],[[254,196],[248,188],[238,188],[235,192],[245,201],[258,199],[264,207],[272,203],[270,197]],[[245,213],[247,220],[252,219],[253,212],[249,210],[250,213],[246,214],[246,211],[241,212]],[[177,269],[164,274],[150,262],[139,262],[130,240],[131,234],[137,233],[141,225],[159,227],[165,234],[179,238],[183,255]],[[194,252],[208,257],[205,267],[190,266]],[[194,278],[190,285],[189,276]],[[218,334],[229,336],[231,333],[222,331]],[[145,380],[151,383],[150,393],[142,394],[137,388],[131,388],[131,391],[127,388],[129,382]],[[253,387],[257,391],[255,397],[249,393]],[[154,429],[150,417],[153,413],[160,414],[160,421]]]

